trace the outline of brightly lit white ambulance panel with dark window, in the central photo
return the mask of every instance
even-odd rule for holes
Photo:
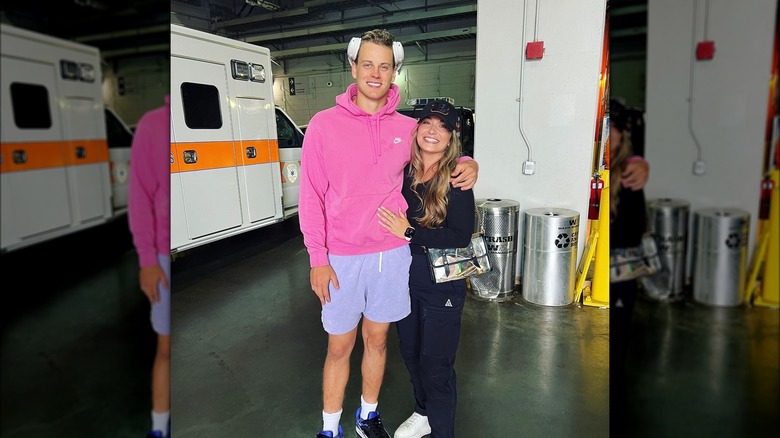
[[[171,56],[171,248],[241,226],[226,67]],[[174,209],[182,209],[181,211]],[[173,223],[175,218],[181,223]],[[175,232],[173,232],[175,230]],[[186,232],[185,232],[186,230]]]

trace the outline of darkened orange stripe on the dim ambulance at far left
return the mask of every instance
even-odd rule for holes
[[[84,159],[76,159],[78,146],[84,148]],[[107,162],[108,148],[105,140],[15,142],[0,144],[0,155],[0,172],[20,172]]]

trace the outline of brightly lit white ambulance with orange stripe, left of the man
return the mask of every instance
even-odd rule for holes
[[[283,198],[292,214],[302,141],[267,48],[171,25],[173,254],[284,220]]]

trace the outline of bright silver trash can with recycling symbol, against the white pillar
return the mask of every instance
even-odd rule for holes
[[[565,306],[574,301],[580,214],[566,208],[525,212],[523,298]]]

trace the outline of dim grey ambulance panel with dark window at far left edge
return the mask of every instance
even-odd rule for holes
[[[68,228],[73,213],[55,65],[5,54],[2,63],[0,229],[5,250]]]

